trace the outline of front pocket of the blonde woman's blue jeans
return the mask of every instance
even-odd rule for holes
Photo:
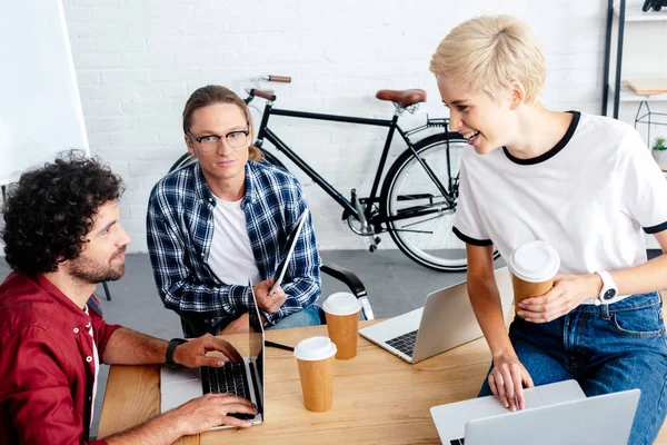
[[[635,298],[635,296],[629,298]],[[638,307],[611,309],[610,317],[613,329],[620,335],[635,338],[653,338],[665,333],[661,303],[659,300]]]

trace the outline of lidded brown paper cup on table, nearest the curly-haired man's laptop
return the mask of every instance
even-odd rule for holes
[[[336,345],[325,336],[306,338],[295,348],[306,409],[321,413],[331,408],[335,355]]]

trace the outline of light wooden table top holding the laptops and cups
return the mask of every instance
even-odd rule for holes
[[[364,322],[362,325],[377,322]],[[326,326],[267,332],[267,339],[296,345]],[[287,350],[266,350],[266,417],[249,429],[222,429],[180,441],[208,444],[439,444],[429,408],[477,395],[490,364],[484,338],[409,365],[359,337],[359,353],[336,362],[334,407],[303,408],[297,362]],[[112,366],[99,437],[160,413],[157,366]],[[345,437],[345,439],[344,439]],[[667,445],[664,427],[656,444]]]

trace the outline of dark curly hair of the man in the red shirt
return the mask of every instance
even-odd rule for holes
[[[77,151],[23,172],[3,206],[7,263],[29,276],[58,270],[81,254],[100,206],[122,192],[119,176]]]

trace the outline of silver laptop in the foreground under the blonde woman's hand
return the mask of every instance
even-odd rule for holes
[[[446,445],[626,445],[639,389],[586,397],[576,380],[524,389],[526,408],[509,412],[494,397],[434,406]]]

